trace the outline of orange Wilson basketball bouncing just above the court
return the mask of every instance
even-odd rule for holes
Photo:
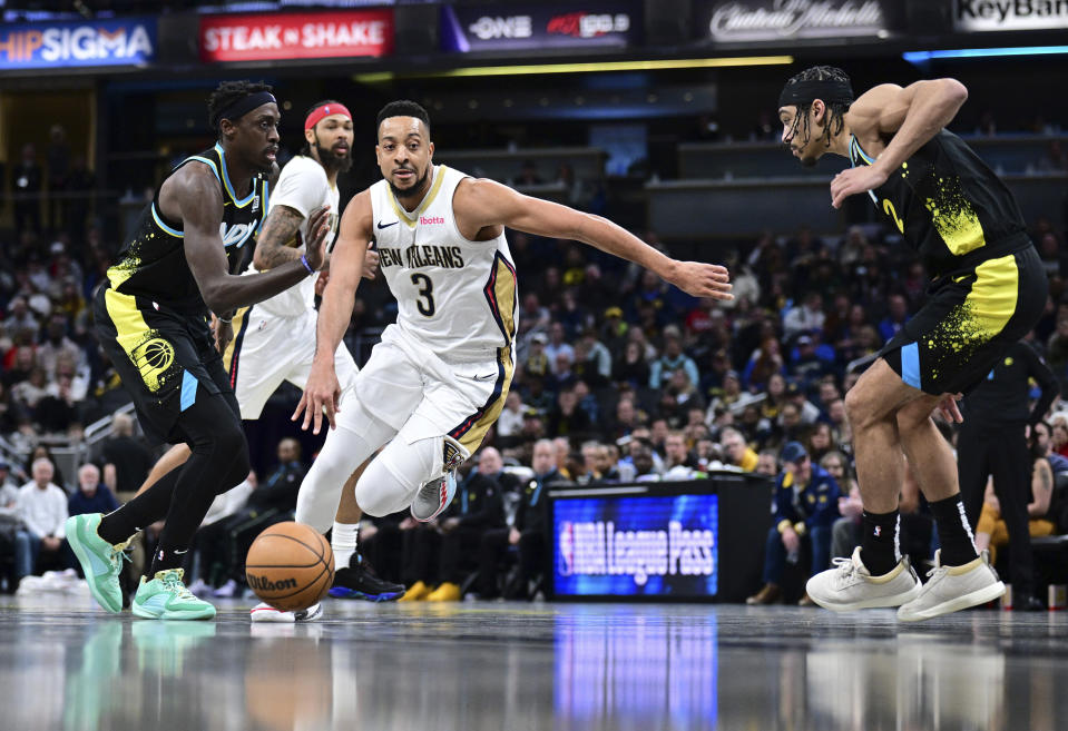
[[[276,523],[256,536],[245,557],[245,577],[256,596],[283,612],[316,603],[334,581],[334,552],[315,529]]]

